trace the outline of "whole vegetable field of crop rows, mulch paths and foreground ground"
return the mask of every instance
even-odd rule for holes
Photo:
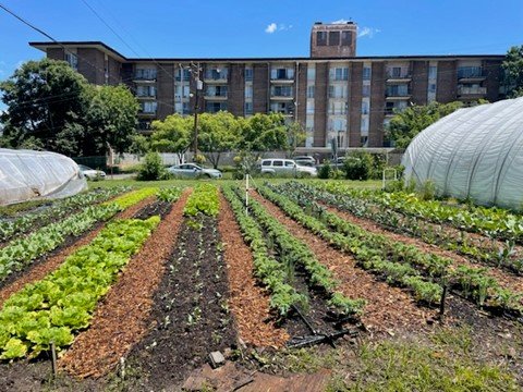
[[[507,210],[195,181],[0,219],[2,390],[516,391],[522,327]]]

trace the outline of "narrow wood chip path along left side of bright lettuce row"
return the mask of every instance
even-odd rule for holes
[[[136,205],[129,207],[126,210],[117,213],[113,219],[129,219],[133,217],[142,208],[153,203],[154,200],[155,200],[155,196],[148,197],[137,203]],[[49,273],[54,271],[58,267],[60,267],[62,262],[65,261],[65,259],[70,255],[75,253],[82,246],[88,245],[93,240],[95,240],[98,233],[106,226],[106,223],[107,222],[96,225],[94,230],[82,235],[70,246],[59,250],[57,254],[45,259],[44,261],[35,262],[35,265],[31,267],[25,273],[20,275],[20,278],[17,278],[15,281],[0,289],[0,308],[3,306],[3,303],[11,295],[22,290],[26,284],[34,283],[44,279]]]

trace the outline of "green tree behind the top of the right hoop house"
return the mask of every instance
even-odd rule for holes
[[[413,106],[397,113],[386,130],[390,139],[399,148],[406,148],[411,140],[423,130],[442,117],[463,107],[463,102],[439,103],[431,102],[427,106]]]

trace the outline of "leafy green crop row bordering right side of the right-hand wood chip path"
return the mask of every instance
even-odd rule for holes
[[[501,287],[486,268],[455,266],[449,258],[368,232],[329,212],[315,201],[324,201],[318,193],[307,191],[307,185],[296,182],[258,187],[291,218],[353,255],[362,268],[382,275],[390,284],[412,290],[418,301],[439,304],[442,286],[447,285],[479,306],[521,313],[521,294]]]

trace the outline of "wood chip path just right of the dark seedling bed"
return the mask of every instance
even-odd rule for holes
[[[245,244],[234,213],[220,194],[218,222],[224,246],[230,298],[229,305],[236,322],[240,338],[254,346],[280,347],[288,340],[284,329],[276,328],[270,319],[268,293],[256,284],[253,256]]]

